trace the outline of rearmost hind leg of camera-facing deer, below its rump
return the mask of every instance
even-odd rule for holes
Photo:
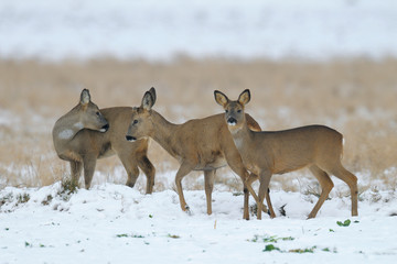
[[[352,217],[358,216],[357,177],[344,168],[341,163],[337,164],[334,169],[332,169],[332,174],[347,184],[352,197]]]

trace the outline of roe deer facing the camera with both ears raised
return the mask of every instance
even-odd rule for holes
[[[351,189],[352,216],[357,216],[357,177],[341,164],[343,136],[324,125],[308,125],[283,131],[250,131],[246,125],[245,105],[250,100],[249,90],[243,91],[237,101],[230,101],[221,91],[215,100],[225,109],[225,120],[238,148],[244,165],[259,176],[259,204],[257,218],[261,218],[261,201],[272,174],[283,174],[309,167],[319,180],[322,193],[309,218],[314,218],[323,205],[333,183],[330,175],[345,182]],[[249,180],[249,183],[251,179]],[[248,183],[248,184],[249,184]]]

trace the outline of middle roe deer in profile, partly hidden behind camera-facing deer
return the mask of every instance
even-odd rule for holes
[[[154,102],[155,89],[151,88],[144,94],[141,106],[135,108],[126,139],[136,141],[150,136],[179,161],[181,166],[175,176],[175,185],[182,210],[189,210],[183,196],[182,178],[192,170],[204,170],[207,213],[211,215],[215,170],[228,164],[243,179],[244,218],[249,219],[248,190],[251,194],[254,190],[250,186],[245,185],[249,175],[243,165],[236,146],[233,144],[233,139],[224,121],[224,114],[194,119],[183,124],[173,124],[152,109]],[[260,130],[251,117],[247,116],[247,122],[249,128]],[[258,199],[255,193],[253,196]],[[273,215],[270,199],[267,200]]]

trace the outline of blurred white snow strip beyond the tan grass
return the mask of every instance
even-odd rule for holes
[[[0,57],[397,55],[395,0],[2,0]]]

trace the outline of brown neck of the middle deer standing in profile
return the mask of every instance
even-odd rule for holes
[[[172,144],[178,124],[169,122],[160,113],[152,110],[153,134],[152,139],[158,142],[168,153],[176,157],[175,146]]]

